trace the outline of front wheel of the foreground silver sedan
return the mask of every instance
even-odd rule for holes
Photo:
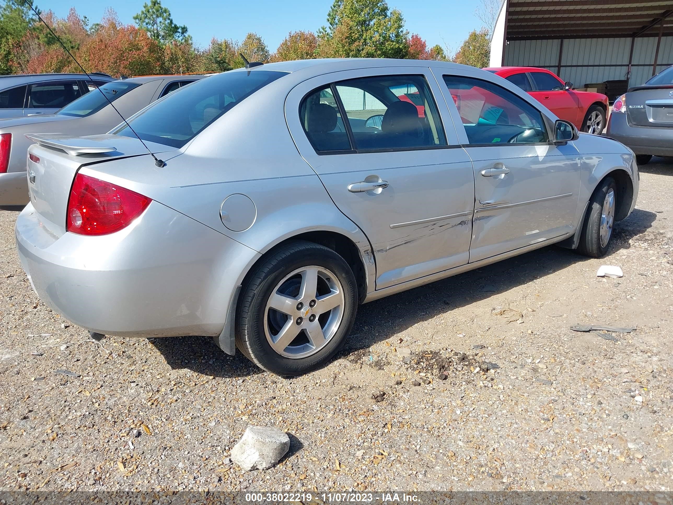
[[[604,178],[589,200],[577,251],[600,258],[608,251],[617,207],[617,184],[612,177]]]

